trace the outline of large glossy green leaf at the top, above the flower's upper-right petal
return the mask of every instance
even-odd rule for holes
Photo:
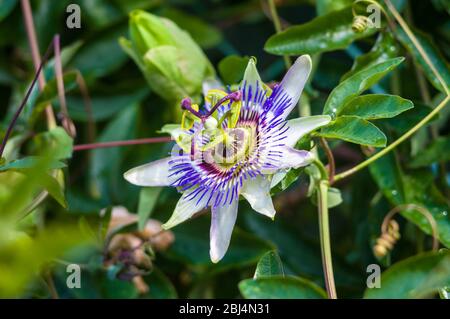
[[[264,49],[277,55],[315,54],[344,49],[353,41],[376,32],[375,28],[367,28],[356,33],[352,30],[352,23],[352,9],[346,7],[271,36]]]

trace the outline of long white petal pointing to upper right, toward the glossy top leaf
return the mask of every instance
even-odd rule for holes
[[[309,55],[302,55],[288,70],[281,81],[281,87],[291,98],[290,106],[284,110],[282,118],[286,118],[292,109],[297,105],[303,88],[305,87],[308,76],[311,73],[312,62]],[[281,96],[280,96],[281,97]],[[274,102],[275,104],[276,102]]]

